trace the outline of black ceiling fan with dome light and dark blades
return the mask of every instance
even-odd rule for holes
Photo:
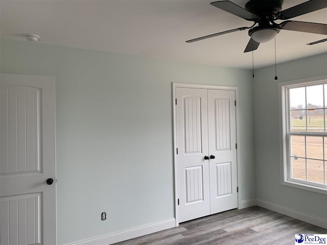
[[[302,14],[307,14],[319,9],[327,8],[326,0],[310,0],[308,2],[282,11],[283,2],[284,0],[250,0],[245,5],[245,9],[230,1],[213,2],[211,5],[239,16],[243,19],[253,21],[253,25],[250,27],[240,27],[203,37],[198,37],[186,42],[200,41],[210,37],[216,37],[231,32],[249,29],[248,34],[251,38],[244,50],[244,53],[246,53],[256,50],[260,43],[272,40],[281,30],[327,35],[327,24],[289,20]],[[285,21],[276,23],[276,20]],[[327,39],[325,38],[308,44],[312,45],[324,41],[327,41]]]

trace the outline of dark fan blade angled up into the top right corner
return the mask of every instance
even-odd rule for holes
[[[319,9],[327,8],[326,0],[310,0],[308,2],[285,9],[276,14],[277,19],[290,19]]]

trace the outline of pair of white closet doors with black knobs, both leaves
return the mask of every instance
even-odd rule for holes
[[[234,90],[176,88],[178,220],[238,207]]]

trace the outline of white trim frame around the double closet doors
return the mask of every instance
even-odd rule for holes
[[[173,85],[173,119],[174,119],[174,180],[175,180],[175,220],[176,227],[179,226],[178,220],[178,179],[177,179],[177,143],[176,143],[176,88],[202,88],[202,89],[219,89],[219,90],[232,90],[235,91],[235,100],[236,100],[236,142],[238,142],[240,138],[240,116],[239,116],[239,88],[237,86],[219,86],[219,85],[203,85],[203,84],[192,84],[192,83],[172,83]],[[237,149],[237,183],[238,187],[240,187],[240,148],[242,146],[238,145]],[[242,188],[238,188],[238,209],[241,207],[241,191]]]

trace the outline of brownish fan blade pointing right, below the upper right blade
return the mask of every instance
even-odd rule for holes
[[[327,1],[326,1],[327,2]],[[281,29],[327,35],[327,24],[286,20],[279,24]]]

